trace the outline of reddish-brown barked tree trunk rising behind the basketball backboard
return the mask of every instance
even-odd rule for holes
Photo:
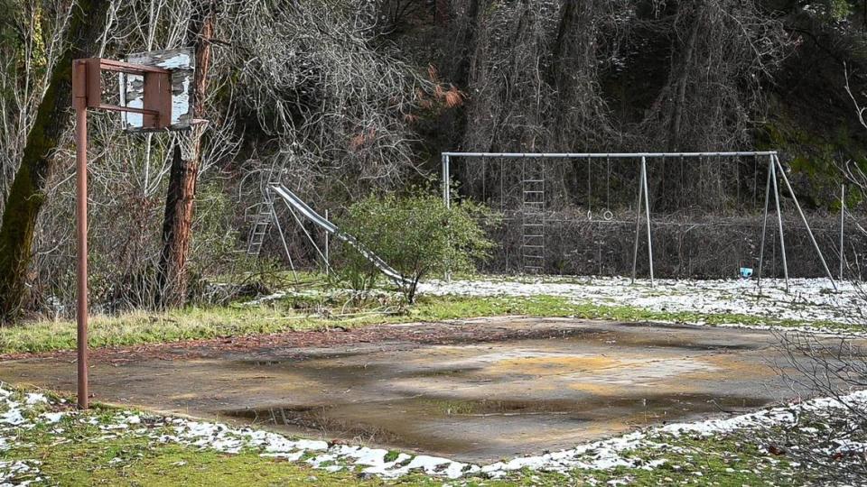
[[[193,78],[193,118],[205,118],[205,98],[210,71],[210,40],[214,32],[217,0],[198,0],[187,29],[188,41],[196,51]],[[163,252],[160,254],[157,303],[161,307],[180,306],[187,295],[187,257],[192,241],[193,203],[201,167],[201,130],[193,128],[189,147],[175,145],[172,170],[163,217]]]

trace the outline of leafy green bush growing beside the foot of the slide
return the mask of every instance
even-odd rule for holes
[[[486,208],[469,201],[448,208],[443,200],[414,189],[408,196],[371,195],[338,220],[340,229],[376,253],[404,280],[396,282],[409,303],[420,280],[434,272],[474,271],[494,246],[478,221],[493,221]],[[382,274],[356,249],[340,246],[340,278],[352,289],[370,289]]]

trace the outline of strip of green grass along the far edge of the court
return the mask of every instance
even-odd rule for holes
[[[385,313],[381,312],[385,311]],[[347,308],[333,298],[293,297],[266,305],[182,308],[164,313],[135,311],[119,316],[91,317],[89,345],[109,347],[178,342],[228,336],[273,334],[293,330],[368,326],[380,323],[436,322],[469,317],[525,315],[578,317],[627,322],[666,321],[753,326],[822,326],[845,329],[832,322],[804,323],[748,315],[703,315],[659,312],[629,306],[574,304],[568,299],[423,297],[411,308],[371,301]],[[40,353],[75,348],[76,326],[71,320],[42,320],[0,327],[0,354]]]

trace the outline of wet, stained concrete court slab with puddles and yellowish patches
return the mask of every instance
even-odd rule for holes
[[[98,350],[96,400],[459,460],[741,413],[806,391],[769,332],[481,318]],[[75,356],[6,356],[0,380],[75,388]]]

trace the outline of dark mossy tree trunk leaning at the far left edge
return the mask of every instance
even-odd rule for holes
[[[108,4],[108,0],[79,0],[70,7],[65,48],[27,135],[21,166],[15,172],[0,224],[0,321],[10,321],[21,312],[33,233],[45,201],[53,153],[70,123],[72,60],[87,58],[95,51],[105,27]]]

